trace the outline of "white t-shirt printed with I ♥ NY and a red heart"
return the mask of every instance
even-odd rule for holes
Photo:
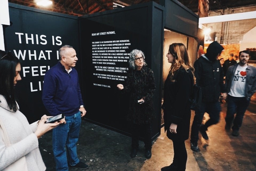
[[[233,97],[245,97],[245,81],[246,81],[246,68],[248,66],[237,66],[233,80],[230,87],[230,92],[228,93]]]

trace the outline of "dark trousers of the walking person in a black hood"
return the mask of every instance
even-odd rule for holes
[[[199,126],[202,124],[203,115],[207,112],[210,119],[205,123],[203,129],[207,130],[211,125],[219,122],[219,113],[221,112],[221,105],[219,101],[216,102],[202,102],[199,111],[195,111],[194,120],[191,126],[190,142],[197,142],[199,137]]]

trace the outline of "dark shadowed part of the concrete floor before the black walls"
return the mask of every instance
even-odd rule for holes
[[[47,170],[55,170],[52,153],[52,133],[39,139],[39,149]],[[140,170],[146,158],[144,144],[140,142],[137,157],[130,157],[130,137],[82,121],[77,153],[89,165],[86,170]],[[70,167],[69,170],[80,170]]]

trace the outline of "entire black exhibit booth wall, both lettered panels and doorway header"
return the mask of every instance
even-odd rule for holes
[[[68,44],[77,52],[85,119],[130,135],[125,119],[129,95],[117,84],[125,84],[129,53],[140,49],[155,76],[152,139],[159,136],[164,27],[196,37],[198,23],[198,17],[175,0],[164,4],[141,3],[78,18],[9,3],[12,25],[5,28],[4,38],[6,51],[21,60],[22,80],[15,88],[20,111],[30,123],[49,115],[41,100],[43,78],[59,61],[58,49]]]

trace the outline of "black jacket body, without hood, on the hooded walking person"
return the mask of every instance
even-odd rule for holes
[[[203,56],[194,63],[197,86],[203,90],[204,102],[216,102],[221,92],[225,92],[223,77],[224,73],[218,60],[213,62]]]

